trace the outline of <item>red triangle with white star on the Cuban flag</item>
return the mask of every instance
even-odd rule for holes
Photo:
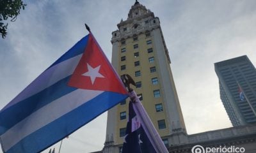
[[[122,81],[91,33],[83,56],[68,85],[79,89],[127,94]]]

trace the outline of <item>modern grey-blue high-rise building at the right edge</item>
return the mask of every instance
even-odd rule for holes
[[[256,69],[246,55],[216,62],[220,98],[233,126],[256,123]],[[244,99],[239,96],[239,86]]]

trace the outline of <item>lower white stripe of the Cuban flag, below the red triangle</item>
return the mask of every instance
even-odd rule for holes
[[[45,105],[0,136],[4,140],[2,144],[4,150],[9,150],[26,136],[83,105],[86,101],[90,101],[102,92],[104,91],[77,89]]]

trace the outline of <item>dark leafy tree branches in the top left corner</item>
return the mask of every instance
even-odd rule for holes
[[[8,23],[4,20],[11,18],[10,21],[14,22],[17,15],[20,14],[20,9],[25,9],[26,4],[21,0],[0,0],[0,34],[2,38],[6,37]]]

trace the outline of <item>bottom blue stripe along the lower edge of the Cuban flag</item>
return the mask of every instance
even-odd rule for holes
[[[35,133],[26,136],[20,143],[17,143],[11,149],[7,150],[6,153],[18,152],[23,149],[28,149],[24,150],[26,153],[34,153],[37,150],[44,150],[45,146],[52,145],[62,138],[65,138],[68,133],[73,133],[81,126],[90,122],[90,120],[95,119],[95,117],[117,105],[119,101],[122,101],[122,99],[125,98],[127,98],[127,95],[118,94],[116,92],[103,92],[75,110],[72,110],[59,119],[47,124],[47,126],[38,129]],[[106,101],[106,99],[110,100]],[[45,135],[45,133],[47,133],[47,135]],[[38,144],[40,144],[40,146],[38,146]]]

